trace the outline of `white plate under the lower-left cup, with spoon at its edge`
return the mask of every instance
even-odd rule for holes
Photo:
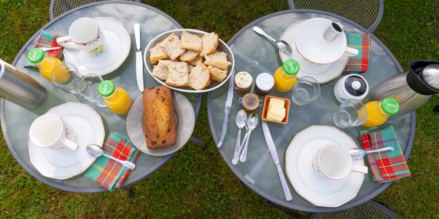
[[[78,144],[79,149],[42,149],[29,140],[30,162],[41,175],[54,179],[68,179],[88,169],[96,157],[86,151],[88,144],[104,144],[105,130],[102,118],[88,105],[64,103],[51,108],[47,114],[60,116],[69,130],[67,137]]]

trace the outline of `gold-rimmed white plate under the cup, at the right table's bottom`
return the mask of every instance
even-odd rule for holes
[[[364,181],[364,174],[351,172],[341,180],[327,179],[312,168],[313,157],[327,144],[357,148],[354,140],[335,127],[314,125],[300,131],[289,143],[285,172],[294,190],[313,205],[338,207],[354,198]],[[354,164],[364,165],[363,159]]]

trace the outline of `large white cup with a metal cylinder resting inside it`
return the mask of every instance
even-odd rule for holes
[[[358,50],[347,46],[346,36],[342,31],[332,41],[325,40],[324,32],[333,21],[326,18],[311,18],[304,21],[297,29],[297,51],[313,64],[329,64],[340,60],[342,55],[358,55]]]

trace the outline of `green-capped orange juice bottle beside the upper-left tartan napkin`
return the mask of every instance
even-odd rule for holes
[[[60,65],[62,62],[61,60],[58,60],[56,57],[51,57],[48,55],[45,55],[45,52],[43,49],[34,48],[27,53],[27,60],[29,62],[32,62],[35,66],[37,66],[40,69],[40,74],[45,77],[45,79],[51,81],[51,75],[54,73],[54,69],[56,66]],[[70,75],[66,71],[59,70],[57,71],[58,74],[64,74],[65,77],[58,77],[61,79],[65,79],[65,81],[68,81],[70,79]],[[65,82],[60,81],[60,82]]]

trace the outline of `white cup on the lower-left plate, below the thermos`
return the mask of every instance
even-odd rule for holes
[[[34,120],[29,129],[29,139],[36,146],[45,149],[62,149],[67,147],[73,151],[78,144],[66,136],[66,126],[59,116],[44,114]]]

